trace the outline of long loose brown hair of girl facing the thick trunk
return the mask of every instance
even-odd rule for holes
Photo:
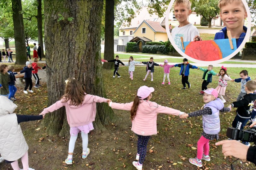
[[[68,79],[64,95],[61,96],[61,99],[63,98],[64,102],[70,100],[70,105],[78,106],[82,105],[85,95],[85,90],[78,80]]]

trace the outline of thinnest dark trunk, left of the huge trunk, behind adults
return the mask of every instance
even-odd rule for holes
[[[38,31],[38,43],[41,46],[41,57],[45,57],[43,52],[43,18],[42,18],[42,0],[37,0],[37,31]]]

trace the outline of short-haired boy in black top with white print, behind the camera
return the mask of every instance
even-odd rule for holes
[[[254,101],[256,100],[256,94],[254,91],[256,90],[256,81],[250,80],[245,84],[246,94],[237,102],[231,103],[228,107],[237,107],[236,117],[232,122],[232,127],[238,128],[240,130],[244,129],[245,124],[251,118],[251,114],[253,111]],[[242,142],[247,146],[250,146],[249,142]]]

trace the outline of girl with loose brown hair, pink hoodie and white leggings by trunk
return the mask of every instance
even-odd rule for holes
[[[48,112],[53,112],[65,106],[67,120],[70,126],[69,154],[65,163],[72,164],[75,141],[79,132],[81,132],[83,140],[82,158],[85,159],[90,153],[90,149],[87,147],[88,133],[93,130],[92,122],[95,120],[96,102],[110,102],[111,100],[86,94],[82,85],[76,79],[69,79],[65,82],[67,86],[61,100],[45,108],[40,115],[45,115]],[[73,95],[71,95],[72,93]]]

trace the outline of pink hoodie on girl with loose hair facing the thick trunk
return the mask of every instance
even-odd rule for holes
[[[73,106],[69,105],[70,101],[62,102],[64,99],[61,99],[54,103],[52,106],[45,108],[42,112],[43,115],[49,112],[53,112],[65,106],[68,124],[70,127],[88,125],[90,122],[95,120],[96,116],[96,102],[107,102],[106,98],[86,94],[82,105]]]

